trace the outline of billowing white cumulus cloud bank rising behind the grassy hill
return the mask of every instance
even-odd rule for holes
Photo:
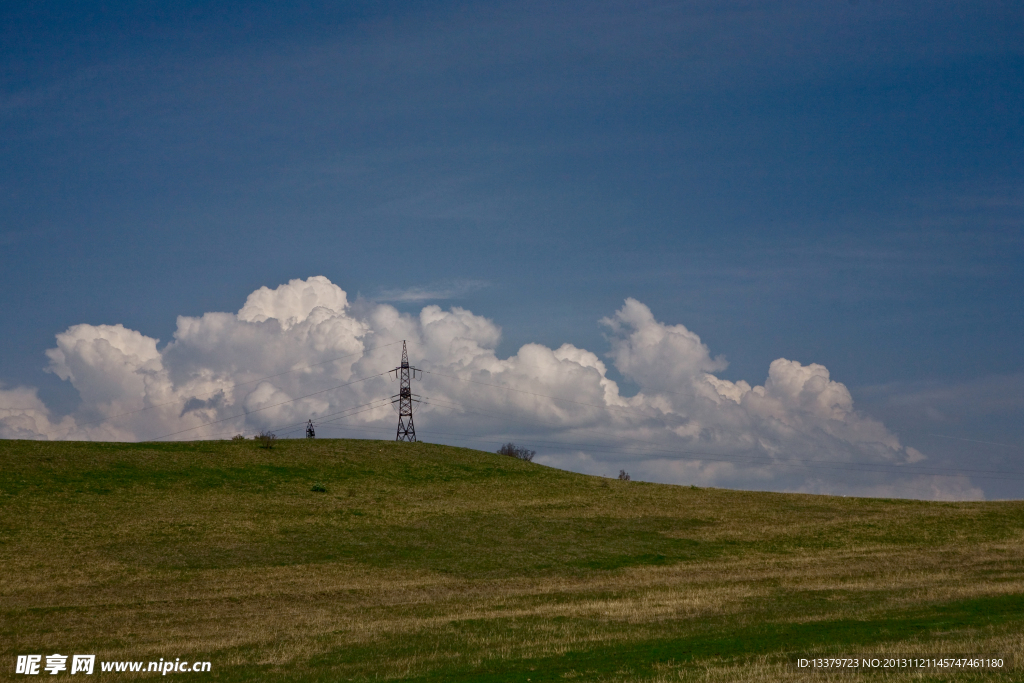
[[[538,462],[593,474],[698,485],[915,498],[981,498],[964,477],[858,413],[817,364],[778,358],[763,384],[716,375],[727,364],[682,325],[635,299],[601,321],[606,358],[639,387],[623,396],[596,353],[526,344],[500,358],[501,329],[460,307],[418,315],[348,301],[327,278],[260,288],[237,313],[180,316],[161,346],[123,326],[77,325],[48,370],[81,396],[55,418],[30,388],[0,388],[0,436],[145,440],[393,434],[387,371],[408,340],[425,371],[415,391],[421,439],[494,450],[516,440]]]

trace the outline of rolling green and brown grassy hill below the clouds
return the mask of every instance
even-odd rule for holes
[[[1020,502],[669,486],[426,443],[0,441],[0,678],[58,652],[218,681],[1022,680],[790,664],[1021,660],[1022,542]]]

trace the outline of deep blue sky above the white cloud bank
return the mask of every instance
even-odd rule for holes
[[[0,27],[0,382],[56,415],[70,326],[163,344],[326,275],[489,318],[501,357],[603,355],[633,297],[722,378],[821,364],[931,462],[1024,477],[1018,3],[25,3]]]

